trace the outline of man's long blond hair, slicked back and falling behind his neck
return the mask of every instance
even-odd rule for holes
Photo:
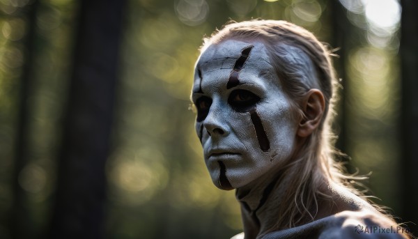
[[[215,31],[210,38],[204,40],[201,51],[208,45],[229,39],[261,40],[264,43],[295,118],[306,118],[300,102],[311,88],[318,88],[325,98],[325,111],[320,126],[307,137],[302,148],[284,166],[282,177],[291,178],[291,188],[282,195],[281,205],[277,206],[280,217],[274,218],[277,223],[270,231],[313,221],[318,213],[318,199],[331,197],[329,190],[321,190],[327,185],[343,186],[362,196],[350,183],[353,176],[344,174],[341,162],[334,159],[338,151],[333,148],[336,137],[330,125],[334,118],[338,82],[332,66],[332,52],[306,29],[275,20],[226,24],[223,29]],[[301,55],[306,56],[307,61],[311,61],[314,66],[312,74],[300,70],[302,65],[294,64],[286,58],[288,52],[285,45],[297,49]]]

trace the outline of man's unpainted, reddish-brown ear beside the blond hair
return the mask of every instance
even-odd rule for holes
[[[297,135],[308,137],[318,126],[323,118],[325,110],[325,98],[323,93],[314,88],[307,92],[302,101],[302,111],[304,116],[299,122]]]

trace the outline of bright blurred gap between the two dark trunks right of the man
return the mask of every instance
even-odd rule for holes
[[[345,65],[345,120],[350,122],[346,150],[360,174],[372,172],[371,193],[386,199],[378,203],[390,205],[396,214],[399,199],[390,195],[398,194],[401,7],[396,0],[340,2],[348,10],[350,23],[362,33],[357,36],[364,38],[353,40],[356,46],[350,49]]]

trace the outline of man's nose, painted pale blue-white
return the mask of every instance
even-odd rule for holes
[[[228,125],[224,121],[223,114],[219,110],[211,107],[208,116],[203,121],[203,127],[211,137],[226,136],[228,134]]]

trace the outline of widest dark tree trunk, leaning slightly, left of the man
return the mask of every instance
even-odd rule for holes
[[[123,0],[81,1],[50,238],[102,238]]]

